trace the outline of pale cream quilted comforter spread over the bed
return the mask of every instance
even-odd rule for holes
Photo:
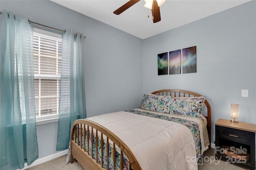
[[[198,169],[195,143],[184,125],[125,111],[87,119],[103,125],[124,141],[142,170]]]

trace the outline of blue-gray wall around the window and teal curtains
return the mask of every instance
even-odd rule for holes
[[[142,39],[48,0],[1,0],[0,5],[1,11],[10,10],[32,21],[59,29],[73,29],[87,36],[84,39],[84,68],[88,117],[139,106],[142,98]],[[36,128],[39,158],[56,153],[58,123]]]

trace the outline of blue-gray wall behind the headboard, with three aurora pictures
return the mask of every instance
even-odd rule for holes
[[[196,46],[197,72],[158,76],[157,54]],[[256,2],[248,2],[143,40],[143,92],[184,89],[206,96],[214,122],[230,119],[230,104],[240,105],[239,121],[256,123]],[[248,89],[249,97],[241,97]]]

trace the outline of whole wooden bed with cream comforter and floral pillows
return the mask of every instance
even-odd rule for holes
[[[164,105],[157,110],[147,98]],[[204,116],[173,113],[177,102],[201,98]],[[144,94],[142,103],[138,109],[74,121],[67,160],[76,159],[86,170],[197,169],[198,158],[210,148],[211,107],[205,97],[166,89]]]

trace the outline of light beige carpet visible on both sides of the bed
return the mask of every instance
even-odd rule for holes
[[[28,170],[84,170],[82,166],[74,161],[73,164],[66,164],[66,156],[60,156],[48,162],[28,168]],[[202,161],[198,162],[198,170],[250,170],[242,165],[229,164],[223,160],[215,160],[214,149],[208,149],[204,152]],[[212,161],[211,161],[212,160]]]

